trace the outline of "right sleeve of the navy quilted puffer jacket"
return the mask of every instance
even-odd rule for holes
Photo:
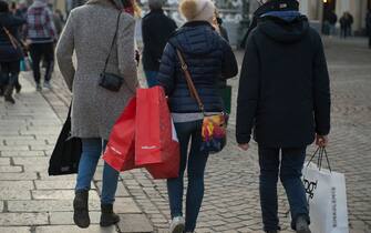
[[[223,64],[221,64],[221,77],[224,79],[230,79],[238,74],[238,64],[235,53],[231,51],[230,45],[226,40],[221,40],[223,43]]]

